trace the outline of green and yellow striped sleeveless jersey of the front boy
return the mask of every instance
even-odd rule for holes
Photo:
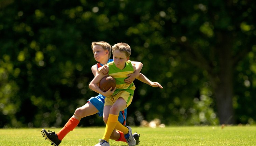
[[[134,72],[131,61],[130,60],[126,61],[125,68],[122,70],[116,67],[114,61],[109,62],[108,65],[109,65],[109,75],[114,77],[116,80],[116,90],[113,93],[113,95],[115,95],[121,90],[127,91],[133,95],[135,90],[135,85],[133,83],[126,84],[124,82],[124,79],[128,78],[127,75]]]

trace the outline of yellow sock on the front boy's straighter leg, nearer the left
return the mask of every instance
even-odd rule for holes
[[[109,137],[116,127],[117,120],[118,120],[118,115],[109,114],[108,122],[106,123],[104,136],[102,137],[103,140],[109,142]]]

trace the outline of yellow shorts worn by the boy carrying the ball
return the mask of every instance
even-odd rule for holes
[[[112,106],[119,97],[122,97],[126,101],[126,107],[128,107],[131,104],[133,94],[131,94],[127,91],[120,91],[115,95],[106,97],[104,106],[105,105],[111,105]]]

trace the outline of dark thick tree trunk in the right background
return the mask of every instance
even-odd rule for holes
[[[225,35],[223,35],[225,36]],[[219,48],[219,73],[215,80],[215,98],[220,124],[234,124],[233,111],[233,60],[230,42],[223,37],[225,45]]]

